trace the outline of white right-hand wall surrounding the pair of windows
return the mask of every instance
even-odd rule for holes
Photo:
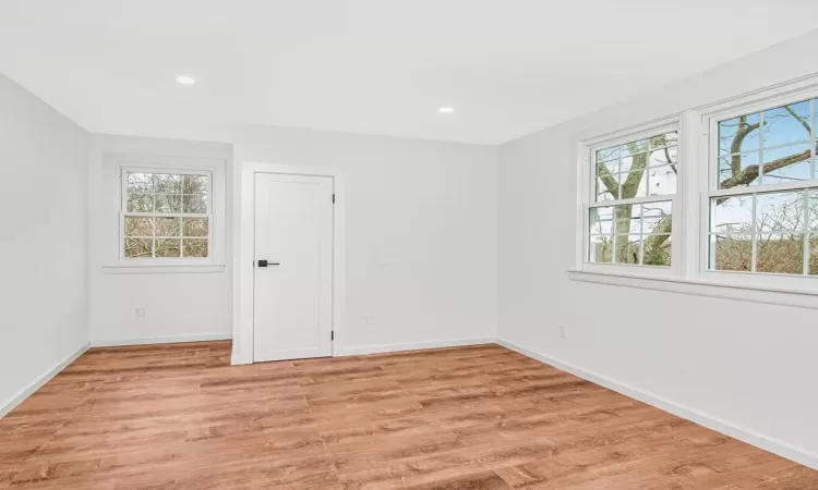
[[[566,274],[580,246],[580,138],[807,75],[816,46],[818,32],[503,145],[500,338],[818,464],[816,311],[579,283]],[[560,324],[568,327],[567,339]]]

